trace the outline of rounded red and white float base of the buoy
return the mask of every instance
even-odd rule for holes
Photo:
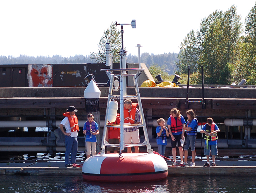
[[[98,154],[86,159],[82,172],[89,181],[142,182],[166,178],[168,166],[154,153]]]

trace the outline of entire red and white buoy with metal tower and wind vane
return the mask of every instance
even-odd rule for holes
[[[105,116],[105,124],[102,133],[101,154],[93,155],[86,159],[83,164],[83,178],[89,181],[100,182],[142,182],[142,181],[157,181],[167,177],[168,166],[165,159],[160,155],[154,154],[151,149],[146,121],[144,118],[143,107],[140,99],[139,86],[137,77],[142,74],[143,68],[126,68],[126,51],[123,47],[123,25],[121,25],[122,48],[120,50],[120,69],[101,69],[110,75],[109,95]],[[132,20],[132,28],[135,28],[135,20]],[[108,47],[109,48],[109,47]],[[136,74],[127,74],[127,70],[136,72]],[[113,74],[114,71],[119,71],[119,74]],[[111,73],[110,73],[111,72]],[[127,76],[133,76],[135,95],[127,95],[126,79]],[[113,95],[113,91],[118,91],[118,84],[114,82],[115,77],[120,80],[120,95]],[[115,84],[115,88],[113,87]],[[118,103],[112,101],[120,99],[120,125],[112,125],[116,120]],[[124,98],[137,99],[140,110],[140,121],[138,124],[124,124]],[[111,119],[111,120],[110,120]],[[111,122],[109,124],[109,122]],[[120,128],[119,144],[108,143],[106,140],[108,127]],[[124,130],[130,127],[143,127],[144,142],[130,144],[124,143]],[[136,130],[138,130],[136,128]],[[118,147],[120,153],[105,154],[106,146]],[[125,147],[146,146],[148,153],[122,153]]]

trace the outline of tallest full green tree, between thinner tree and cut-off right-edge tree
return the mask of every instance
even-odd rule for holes
[[[206,84],[229,84],[237,63],[241,42],[240,16],[233,5],[226,12],[215,11],[200,26],[200,56]]]

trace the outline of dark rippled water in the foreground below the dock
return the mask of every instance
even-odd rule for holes
[[[81,176],[0,176],[1,193],[256,192],[256,177],[169,177],[158,182],[94,183]]]

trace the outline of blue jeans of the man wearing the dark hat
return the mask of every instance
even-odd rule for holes
[[[66,151],[65,151],[65,166],[68,164],[75,164],[76,162],[76,154],[78,150],[78,142],[76,137],[69,137],[65,136],[65,146],[66,146]],[[69,161],[69,155],[71,154],[71,159]]]

